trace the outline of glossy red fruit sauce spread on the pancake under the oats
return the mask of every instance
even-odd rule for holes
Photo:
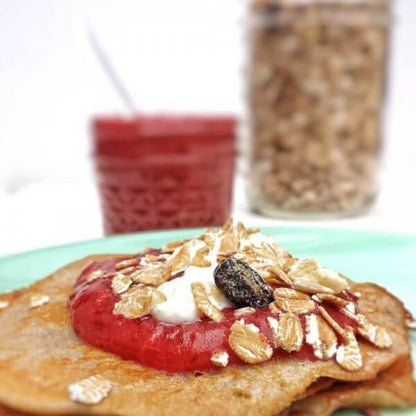
[[[159,251],[154,251],[158,254]],[[142,255],[138,255],[140,259]],[[89,264],[79,276],[70,297],[73,328],[78,337],[87,344],[114,353],[142,365],[168,372],[189,372],[210,370],[216,367],[211,357],[217,352],[227,352],[228,364],[242,364],[229,345],[232,324],[243,319],[246,324],[256,325],[274,346],[273,334],[267,317],[275,316],[266,308],[256,308],[252,314],[236,318],[234,309],[222,311],[221,322],[200,318],[194,322],[171,324],[155,319],[151,315],[128,319],[113,313],[120,295],[111,288],[111,277],[97,278],[90,282],[87,276],[96,270],[111,272],[120,259],[111,259]],[[352,295],[346,295],[353,299]],[[328,313],[346,328],[356,329],[356,322],[330,305]],[[319,311],[314,311],[319,314]],[[275,316],[276,317],[276,316]],[[303,328],[305,316],[300,316]],[[274,349],[273,359],[316,360],[312,347],[304,342],[299,352],[287,353]]]

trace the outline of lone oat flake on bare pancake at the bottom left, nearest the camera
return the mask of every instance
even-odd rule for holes
[[[111,382],[101,375],[88,377],[68,387],[71,400],[88,405],[100,403],[111,389]]]

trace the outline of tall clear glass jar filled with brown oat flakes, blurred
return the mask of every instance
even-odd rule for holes
[[[252,0],[251,208],[338,217],[377,194],[390,0]]]

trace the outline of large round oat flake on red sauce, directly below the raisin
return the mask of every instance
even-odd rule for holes
[[[245,324],[243,320],[233,323],[228,342],[236,355],[248,364],[262,363],[273,355],[266,336],[255,325]]]

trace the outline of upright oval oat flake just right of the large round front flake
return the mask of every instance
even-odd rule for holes
[[[282,313],[279,318],[279,328],[276,345],[287,352],[300,351],[303,345],[302,323],[293,313]]]

